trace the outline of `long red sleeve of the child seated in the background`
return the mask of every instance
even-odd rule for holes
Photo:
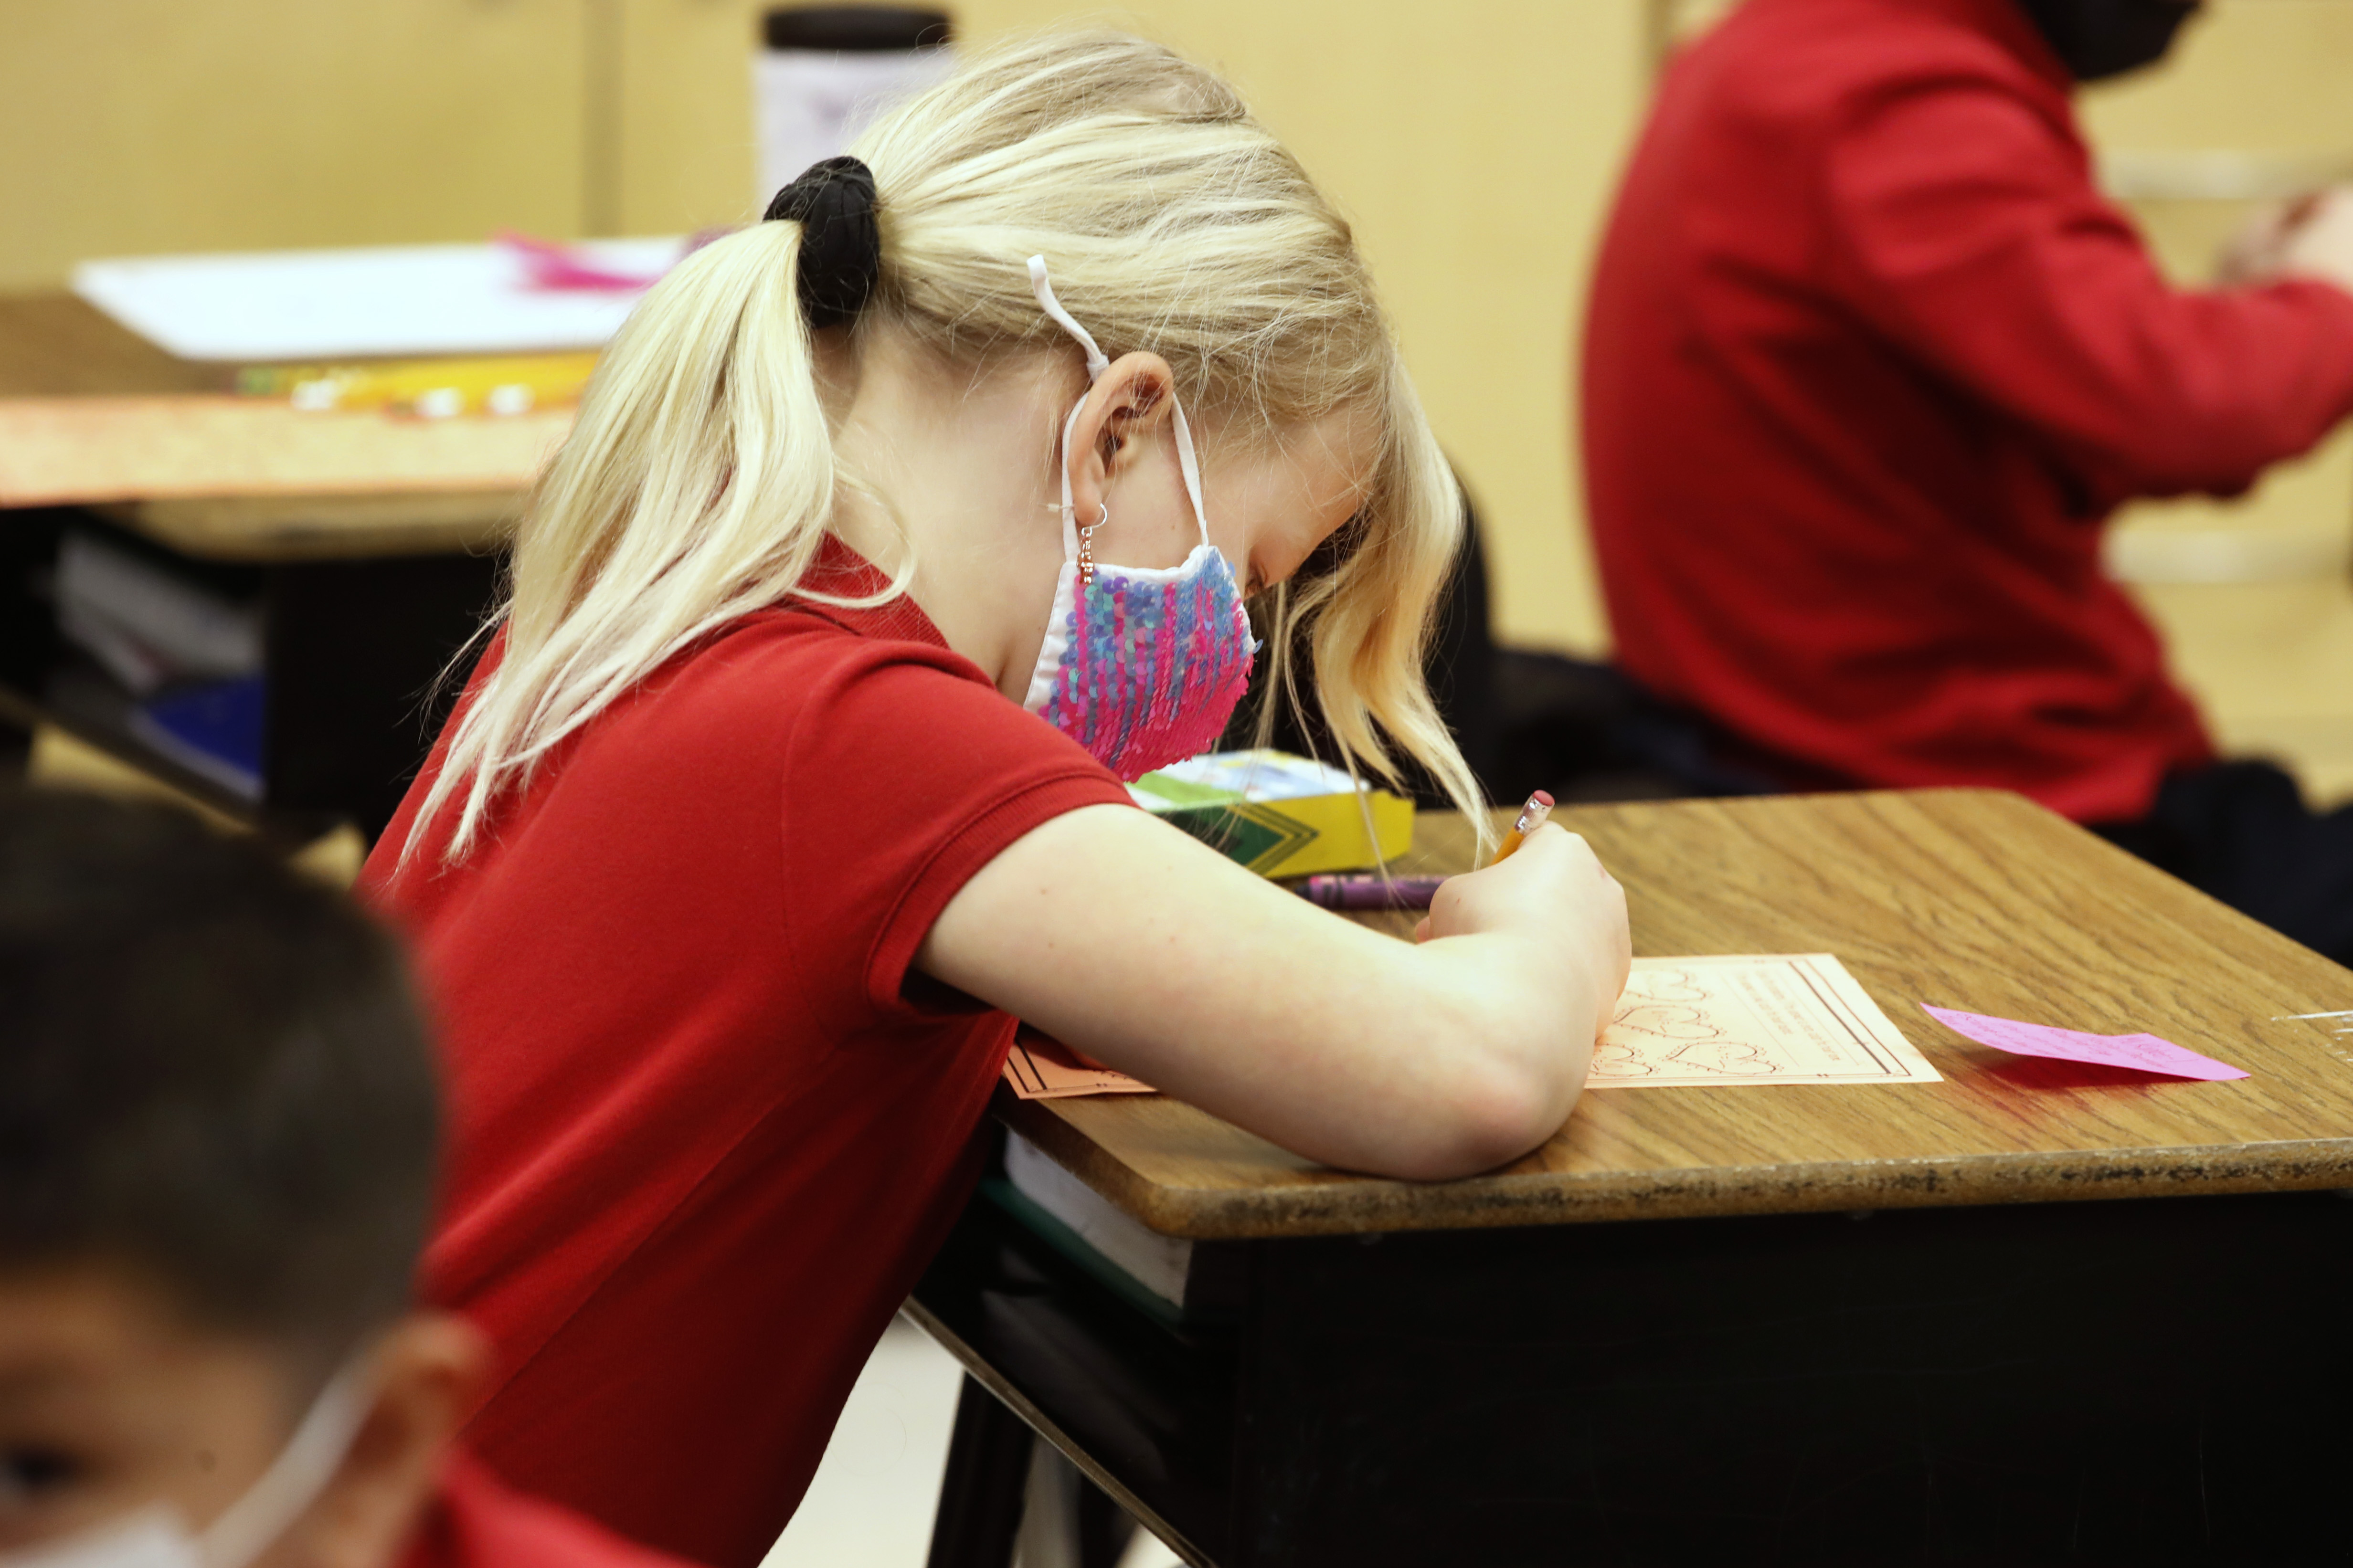
[[[2353,294],[2169,287],[2054,115],[1965,71],[1859,101],[1824,195],[1849,308],[2111,501],[2245,489],[2353,411]]]

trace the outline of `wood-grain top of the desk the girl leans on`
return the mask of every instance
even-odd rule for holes
[[[2017,795],[1654,802],[1553,820],[1626,884],[1638,954],[1835,952],[1946,1081],[1600,1088],[1518,1164],[1428,1185],[1313,1166],[1162,1095],[1000,1093],[998,1112],[1129,1215],[1198,1239],[2353,1187],[2353,1034],[2287,1018],[2353,1009],[2353,971]],[[1461,870],[1468,830],[1426,813],[1414,858],[1405,870]],[[2014,1058],[1944,1030],[1922,1001],[2146,1030],[2252,1077]]]

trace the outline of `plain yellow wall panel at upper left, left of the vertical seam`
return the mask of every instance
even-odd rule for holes
[[[576,233],[584,38],[581,0],[0,0],[0,289]]]

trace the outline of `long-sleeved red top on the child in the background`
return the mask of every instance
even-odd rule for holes
[[[1793,778],[2139,818],[2212,752],[2101,522],[2348,411],[2353,296],[2167,287],[2014,0],[1746,0],[1668,68],[1593,282],[1617,658]]]

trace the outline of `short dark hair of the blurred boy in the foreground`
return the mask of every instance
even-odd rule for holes
[[[0,1269],[127,1265],[339,1359],[407,1309],[435,1135],[348,900],[167,806],[0,792]]]

